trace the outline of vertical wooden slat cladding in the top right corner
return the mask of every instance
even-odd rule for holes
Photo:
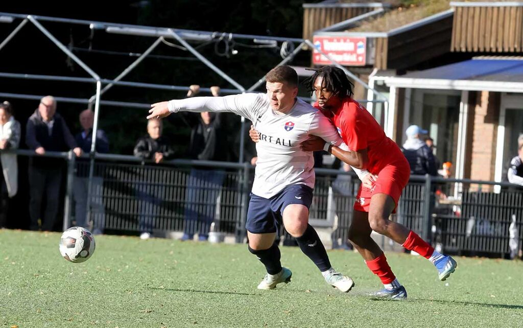
[[[523,7],[454,8],[451,51],[521,52]]]

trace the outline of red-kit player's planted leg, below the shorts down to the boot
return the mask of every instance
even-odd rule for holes
[[[369,224],[369,213],[362,209],[358,206],[358,210],[354,211],[353,222],[349,228],[349,241],[363,257],[371,272],[377,275],[383,284],[383,290],[373,293],[372,296],[395,300],[406,299],[405,288],[396,279],[385,254],[370,236],[372,229]]]

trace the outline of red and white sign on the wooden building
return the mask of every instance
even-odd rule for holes
[[[344,66],[365,66],[367,56],[367,38],[365,37],[329,37],[314,36],[312,63],[330,65],[319,50],[325,52],[333,60]]]

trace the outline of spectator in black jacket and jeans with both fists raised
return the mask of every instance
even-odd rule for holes
[[[191,85],[188,96],[198,93],[199,86]],[[214,97],[220,95],[219,87],[211,87]],[[200,120],[192,128],[189,144],[191,159],[201,161],[226,161],[228,147],[225,144],[221,113],[201,112]],[[254,157],[253,157],[254,158]],[[251,159],[251,163],[255,160]],[[206,241],[209,228],[214,220],[217,199],[220,195],[225,172],[211,167],[192,168],[187,184],[185,228],[181,240],[192,240],[198,233],[198,240]]]

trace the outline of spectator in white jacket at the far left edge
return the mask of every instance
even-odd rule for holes
[[[13,117],[8,101],[0,104],[0,150],[17,149],[20,143],[20,123]],[[2,181],[0,182],[0,229],[7,224],[9,198],[18,191],[18,163],[16,154],[0,155]]]

